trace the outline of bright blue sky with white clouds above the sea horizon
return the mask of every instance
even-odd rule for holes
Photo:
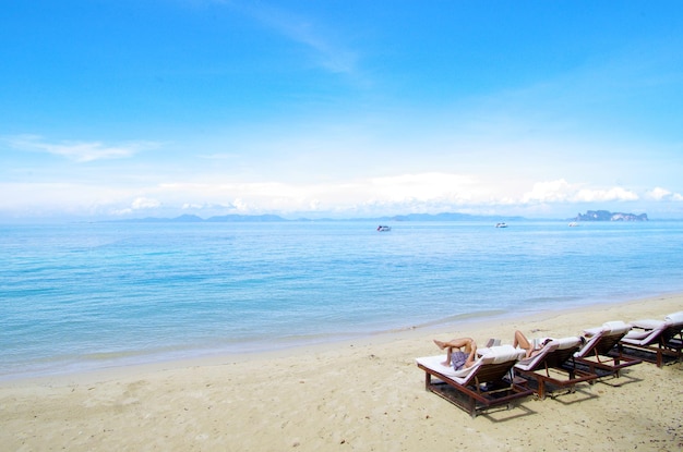
[[[683,218],[679,1],[2,10],[0,220]]]

